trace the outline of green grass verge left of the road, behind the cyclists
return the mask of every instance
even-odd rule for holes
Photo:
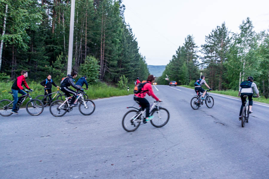
[[[2,99],[12,99],[12,95],[7,93],[8,91],[11,91],[11,86],[13,82],[6,82],[6,83],[0,83],[0,100]],[[36,96],[42,94],[44,95],[44,87],[40,85],[40,83],[34,82],[34,81],[27,81],[28,86],[33,89],[33,92],[30,92],[30,96],[32,98],[36,98]],[[56,83],[59,85],[59,83]],[[85,85],[83,86],[84,88]],[[74,89],[71,87],[71,89]],[[52,87],[52,92],[57,91],[56,87]],[[62,93],[62,91],[60,91]],[[93,85],[89,85],[88,90],[85,90],[85,92],[88,94],[89,99],[98,99],[98,98],[106,98],[111,96],[124,96],[133,94],[133,88],[130,87],[130,90],[122,90],[119,88],[115,88],[113,86],[108,86],[106,83],[97,83]],[[20,96],[20,94],[18,94]],[[27,98],[24,102],[24,105],[29,101],[29,98]]]

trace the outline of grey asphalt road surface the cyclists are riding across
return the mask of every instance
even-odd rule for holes
[[[90,116],[74,108],[54,117],[47,107],[39,116],[24,109],[1,116],[0,178],[268,178],[268,105],[254,104],[243,128],[241,102],[233,97],[211,94],[213,108],[193,110],[194,90],[155,87],[170,112],[161,128],[147,123],[131,133],[123,130],[132,95],[94,100]]]

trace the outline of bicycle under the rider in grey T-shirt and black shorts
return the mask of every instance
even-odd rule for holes
[[[212,96],[209,96],[209,94],[207,93],[207,91],[210,91],[210,90],[206,90],[206,94],[205,94],[205,103],[207,105],[207,108],[212,108],[214,106],[214,99]],[[204,104],[203,100],[201,99],[201,94],[199,91],[195,91],[197,93],[196,96],[194,96],[192,99],[191,99],[191,107],[192,109],[196,110],[198,108],[201,107],[201,105]]]

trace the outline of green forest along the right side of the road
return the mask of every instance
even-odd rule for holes
[[[201,50],[194,37],[187,35],[158,78],[158,84],[167,85],[167,75],[170,81],[194,86],[203,74],[213,90],[238,90],[240,82],[253,76],[260,95],[268,98],[269,35],[268,31],[255,32],[253,28],[250,18],[239,25],[239,33],[231,32],[224,22],[205,36]]]

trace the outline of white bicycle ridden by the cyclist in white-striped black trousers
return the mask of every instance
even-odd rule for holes
[[[77,94],[77,99],[75,100],[75,104],[79,104],[79,111],[80,113],[82,113],[83,115],[91,115],[94,110],[95,110],[95,104],[92,100],[90,99],[84,99],[83,97],[83,90],[81,90],[78,94]],[[71,99],[72,96],[70,97],[66,97],[65,101],[62,100],[55,100],[54,102],[51,103],[50,105],[50,112],[53,116],[56,117],[60,117],[65,115],[65,113],[70,112],[73,110],[73,107],[76,106],[70,106],[70,102],[68,99]],[[86,112],[84,112],[84,110]]]

